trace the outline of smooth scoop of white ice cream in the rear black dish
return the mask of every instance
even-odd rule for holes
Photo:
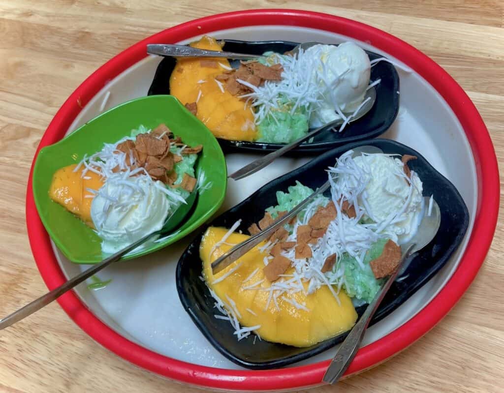
[[[310,127],[319,127],[340,116],[351,114],[362,103],[369,85],[371,64],[366,52],[353,42],[335,45],[314,45],[306,54],[319,57],[321,64],[313,75],[323,94],[322,103],[310,117]]]

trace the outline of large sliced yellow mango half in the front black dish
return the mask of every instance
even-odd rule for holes
[[[263,340],[295,347],[309,347],[346,332],[355,324],[357,313],[350,298],[343,291],[338,294],[341,304],[338,304],[327,286],[323,286],[309,295],[306,295],[303,291],[294,294],[284,293],[277,299],[278,310],[273,300],[268,305],[269,291],[245,289],[244,287],[265,279],[263,260],[268,254],[259,250],[264,243],[254,247],[232,265],[214,276],[211,268],[212,261],[232,247],[228,244],[222,244],[212,251],[214,245],[222,239],[226,232],[227,229],[225,228],[208,228],[201,242],[200,256],[203,260],[203,275],[208,287],[224,303],[229,305],[227,297],[236,303],[236,308],[241,315],[241,317],[238,316],[240,325],[261,325],[257,333]],[[228,237],[226,243],[237,244],[248,237],[247,235],[233,233]],[[234,273],[223,281],[213,284],[214,281],[238,264],[241,265]],[[256,269],[258,269],[257,273],[248,281],[243,282]],[[286,274],[291,274],[292,271],[293,268],[289,268]],[[268,289],[270,285],[271,283],[265,279],[256,288]],[[304,284],[304,288],[307,289],[307,284]],[[296,308],[284,297],[305,305],[309,311]],[[267,305],[268,307],[266,307]],[[247,308],[257,316],[247,311]]]

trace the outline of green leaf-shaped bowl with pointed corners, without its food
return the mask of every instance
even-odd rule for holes
[[[56,246],[71,261],[96,264],[105,255],[96,233],[64,207],[49,198],[53,173],[64,166],[78,163],[84,154],[91,155],[104,143],[115,143],[129,136],[140,124],[154,128],[165,123],[188,145],[203,145],[196,161],[196,175],[205,171],[212,185],[198,195],[195,206],[173,236],[158,243],[146,244],[123,259],[132,259],[159,250],[194,231],[222,205],[226,193],[227,171],[224,155],[210,130],[193,116],[175,97],[149,96],[125,102],[87,122],[68,137],[43,148],[33,170],[33,195],[38,214]],[[164,236],[164,235],[162,235]]]

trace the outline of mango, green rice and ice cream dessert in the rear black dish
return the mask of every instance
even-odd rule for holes
[[[204,36],[191,46],[222,50]],[[353,42],[266,52],[232,69],[226,59],[179,58],[170,93],[218,138],[289,143],[341,118],[341,132],[364,102],[369,57]]]

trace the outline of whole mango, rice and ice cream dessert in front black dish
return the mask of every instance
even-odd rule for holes
[[[211,263],[248,235],[210,227],[200,247],[203,278],[216,308],[238,340],[260,338],[298,347],[337,336],[357,319],[398,267],[400,244],[414,236],[424,215],[422,182],[407,165],[412,156],[349,151],[328,168],[331,195],[319,195],[269,239],[223,271]],[[277,192],[278,205],[248,227],[268,228],[312,194],[296,182]],[[388,201],[386,203],[385,201]]]

